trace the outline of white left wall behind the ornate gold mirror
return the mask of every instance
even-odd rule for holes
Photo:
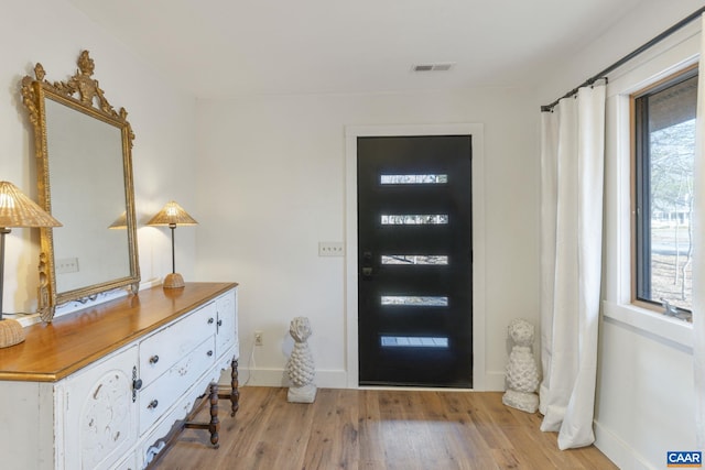
[[[120,43],[102,33],[64,1],[4,2],[0,14],[0,179],[14,183],[36,200],[33,131],[21,102],[20,80],[40,62],[50,81],[76,72],[82,50],[96,63],[94,78],[110,103],[124,107],[135,133],[133,149],[135,205],[143,223],[170,198],[195,206],[191,185],[195,165],[195,99],[174,91]],[[76,168],[80,177],[80,168]],[[194,215],[196,216],[196,215]],[[169,233],[156,228],[138,231],[143,281],[171,271]],[[193,277],[194,229],[177,233],[177,267]],[[4,310],[36,307],[39,231],[14,229],[7,239]]]

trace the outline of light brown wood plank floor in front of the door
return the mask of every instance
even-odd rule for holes
[[[502,405],[499,392],[325,389],[293,404],[286,391],[240,389],[235,418],[221,401],[219,449],[186,429],[155,468],[617,469],[595,447],[558,450],[540,415]]]

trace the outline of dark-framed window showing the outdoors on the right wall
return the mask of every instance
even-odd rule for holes
[[[632,298],[691,318],[697,69],[632,95]]]

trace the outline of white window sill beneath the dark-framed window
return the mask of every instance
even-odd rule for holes
[[[674,342],[693,349],[693,324],[663,314],[651,311],[634,305],[617,304],[605,300],[603,315],[606,318],[629,325],[648,336]]]

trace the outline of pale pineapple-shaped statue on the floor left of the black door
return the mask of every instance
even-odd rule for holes
[[[313,383],[316,370],[307,342],[312,332],[308,318],[296,317],[291,320],[289,334],[294,339],[294,349],[286,361],[286,374],[291,381],[286,395],[289,402],[313,403],[316,398],[316,385]]]

